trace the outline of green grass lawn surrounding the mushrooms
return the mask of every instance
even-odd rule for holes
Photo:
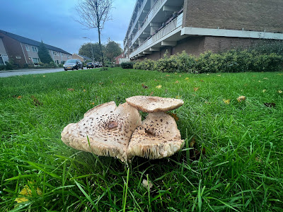
[[[282,72],[218,76],[113,68],[0,78],[0,211],[282,211],[278,90]],[[151,94],[185,102],[173,112],[186,145],[170,158],[136,157],[126,166],[60,140],[64,126],[95,105]],[[238,102],[239,95],[246,101]],[[190,160],[186,148],[192,138],[195,148],[205,148],[199,160]],[[143,179],[153,187],[144,188]],[[28,184],[31,195],[18,204]]]

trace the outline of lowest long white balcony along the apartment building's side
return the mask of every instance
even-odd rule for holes
[[[173,19],[171,23],[168,23],[164,28],[159,30],[151,38],[144,41],[137,49],[129,54],[131,59],[141,57],[151,52],[158,51],[160,47],[175,46],[178,40],[183,39],[180,35],[183,22],[183,13]]]

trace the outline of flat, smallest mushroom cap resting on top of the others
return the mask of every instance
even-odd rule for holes
[[[126,101],[129,105],[132,105],[132,107],[142,112],[165,112],[174,110],[184,104],[183,100],[144,95],[132,96],[127,98]]]

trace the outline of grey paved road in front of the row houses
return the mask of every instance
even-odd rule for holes
[[[36,73],[53,73],[59,71],[64,71],[64,69],[63,68],[62,69],[18,69],[11,71],[0,71],[0,77],[18,76],[18,75],[36,74]]]

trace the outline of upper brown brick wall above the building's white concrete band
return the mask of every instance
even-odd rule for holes
[[[185,0],[183,27],[283,33],[282,0]]]

